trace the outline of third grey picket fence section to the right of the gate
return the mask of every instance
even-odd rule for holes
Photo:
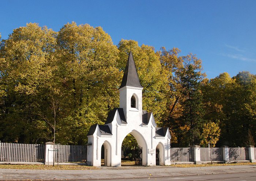
[[[249,152],[248,148],[229,148],[229,159],[231,161],[236,161],[236,160],[249,160]]]

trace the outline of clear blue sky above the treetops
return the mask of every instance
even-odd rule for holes
[[[256,74],[256,0],[1,0],[0,17],[3,39],[26,23],[59,31],[75,21],[101,26],[115,45],[133,39],[197,54],[208,78]]]

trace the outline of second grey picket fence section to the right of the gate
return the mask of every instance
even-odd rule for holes
[[[201,161],[223,161],[222,148],[200,148]]]

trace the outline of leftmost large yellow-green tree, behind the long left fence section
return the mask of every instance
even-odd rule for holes
[[[37,142],[48,126],[40,122],[39,100],[47,95],[53,68],[55,32],[29,23],[14,30],[1,44],[1,139]],[[46,131],[48,132],[48,131]]]

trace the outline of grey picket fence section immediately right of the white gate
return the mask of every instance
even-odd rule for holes
[[[192,147],[171,148],[170,149],[171,162],[193,162],[194,153]]]

